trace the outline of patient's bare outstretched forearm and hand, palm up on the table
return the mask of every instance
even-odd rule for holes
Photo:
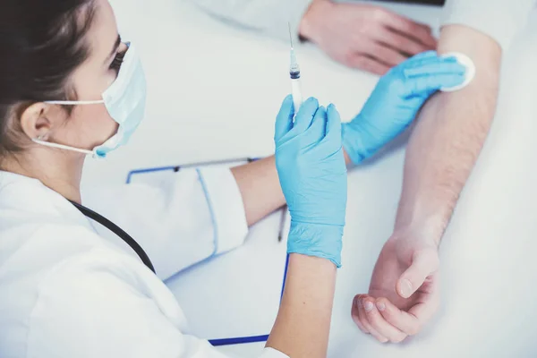
[[[501,50],[482,32],[442,29],[439,53],[461,52],[477,72],[463,90],[425,104],[410,139],[394,234],[373,269],[368,294],[354,299],[353,319],[380,342],[419,332],[439,307],[438,245],[496,109]]]

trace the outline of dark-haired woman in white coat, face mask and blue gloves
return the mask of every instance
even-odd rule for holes
[[[118,205],[92,209],[115,226],[82,206],[82,166],[87,154],[105,157],[129,139],[143,116],[145,80],[107,0],[4,0],[0,48],[3,358],[223,356],[188,335],[162,279],[240,245],[284,194],[292,216],[287,285],[262,356],[326,355],[344,156],[355,164],[370,157],[465,72],[453,58],[418,55],[382,78],[343,129],[334,106],[311,98],[294,118],[286,98],[276,159],[109,192],[107,202]]]

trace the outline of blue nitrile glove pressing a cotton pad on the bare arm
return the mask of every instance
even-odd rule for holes
[[[443,87],[465,81],[465,66],[455,57],[424,52],[398,64],[380,78],[354,120],[342,126],[343,147],[354,164],[403,132],[427,98]]]

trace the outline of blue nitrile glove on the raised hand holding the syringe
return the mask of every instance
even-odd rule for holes
[[[287,252],[341,266],[347,198],[341,121],[336,107],[309,98],[294,118],[288,96],[276,120],[276,166],[291,213]]]

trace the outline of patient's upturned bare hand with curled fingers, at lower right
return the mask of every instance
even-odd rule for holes
[[[382,343],[415,335],[439,307],[438,270],[437,243],[393,236],[380,251],[369,294],[354,297],[354,322]]]

